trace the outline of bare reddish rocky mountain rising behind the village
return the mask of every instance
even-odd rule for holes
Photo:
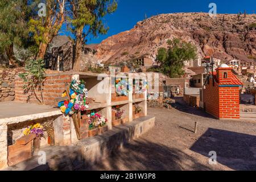
[[[195,44],[201,56],[250,61],[256,55],[254,23],[255,14],[218,14],[216,18],[207,13],[161,14],[110,36],[94,48],[102,63],[115,64],[142,55],[155,56],[158,48],[167,47],[167,40],[180,38]]]

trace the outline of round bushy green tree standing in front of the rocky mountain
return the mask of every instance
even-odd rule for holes
[[[184,61],[196,59],[196,47],[180,39],[169,40],[168,48],[159,48],[156,59],[160,63],[160,72],[170,77],[184,74]]]

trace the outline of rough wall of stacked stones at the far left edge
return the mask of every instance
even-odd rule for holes
[[[15,77],[19,72],[22,72],[21,68],[0,68],[0,102],[13,101],[15,99]]]

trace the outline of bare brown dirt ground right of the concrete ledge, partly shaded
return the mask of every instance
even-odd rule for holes
[[[219,121],[177,101],[168,110],[148,108],[154,129],[85,170],[256,170],[256,122]],[[217,164],[209,164],[210,151]]]

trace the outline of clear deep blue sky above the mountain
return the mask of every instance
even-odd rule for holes
[[[114,14],[106,15],[104,21],[109,26],[106,35],[89,38],[88,44],[100,43],[109,36],[130,30],[143,20],[145,14],[150,16],[165,13],[209,12],[209,3],[216,3],[217,13],[235,13],[246,10],[256,13],[256,0],[117,0],[118,9]]]

